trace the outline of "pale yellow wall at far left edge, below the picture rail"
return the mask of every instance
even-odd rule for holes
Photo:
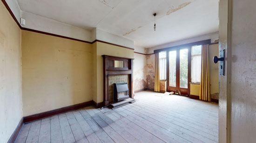
[[[21,31],[0,2],[0,143],[7,143],[22,118]]]

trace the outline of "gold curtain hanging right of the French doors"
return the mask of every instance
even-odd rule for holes
[[[202,66],[199,99],[211,101],[210,95],[210,71],[209,71],[209,44],[202,45]]]

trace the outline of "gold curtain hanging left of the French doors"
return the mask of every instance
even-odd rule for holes
[[[155,92],[160,92],[159,53],[155,53]]]

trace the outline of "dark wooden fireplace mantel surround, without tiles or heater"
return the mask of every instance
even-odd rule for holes
[[[108,56],[103,57],[103,106],[108,106],[108,75],[129,75],[129,96],[133,99],[133,58]],[[123,68],[115,68],[115,61],[123,61]]]

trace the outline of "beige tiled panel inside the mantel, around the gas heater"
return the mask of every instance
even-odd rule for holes
[[[127,82],[129,87],[129,75],[108,75],[108,96],[109,103],[113,102],[113,88],[114,83],[117,82]]]

